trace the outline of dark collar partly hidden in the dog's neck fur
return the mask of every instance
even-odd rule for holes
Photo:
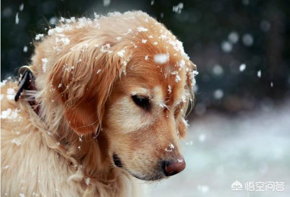
[[[19,82],[19,89],[14,97],[14,100],[17,102],[21,96],[23,90],[37,90],[35,86],[35,78],[33,76],[33,70],[30,66],[22,66],[18,70],[18,77],[20,79]],[[29,99],[28,103],[35,111],[37,115],[39,115],[39,105],[35,98]]]

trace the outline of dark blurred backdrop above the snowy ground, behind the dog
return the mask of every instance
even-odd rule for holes
[[[1,79],[29,63],[35,35],[46,32],[55,17],[143,10],[164,23],[197,64],[196,114],[208,109],[271,109],[289,98],[288,0],[182,0],[181,13],[173,12],[179,2],[155,0],[151,5],[151,0],[111,0],[104,6],[103,0],[2,0]],[[17,12],[19,24],[15,24]],[[243,63],[246,70],[240,72]]]

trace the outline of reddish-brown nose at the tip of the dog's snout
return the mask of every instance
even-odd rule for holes
[[[175,159],[163,161],[163,170],[166,176],[172,176],[184,170],[185,161],[182,156]]]

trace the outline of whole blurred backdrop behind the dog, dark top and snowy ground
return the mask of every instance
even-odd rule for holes
[[[149,184],[148,196],[289,197],[288,0],[2,0],[1,80],[29,63],[35,36],[60,16],[127,10],[164,23],[199,72],[181,143],[187,167]],[[285,191],[236,192],[236,180],[284,182]]]

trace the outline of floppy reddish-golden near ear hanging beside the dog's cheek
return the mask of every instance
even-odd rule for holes
[[[110,44],[79,44],[54,64],[50,82],[64,104],[65,118],[78,134],[101,129],[105,102],[125,69],[124,53]]]

